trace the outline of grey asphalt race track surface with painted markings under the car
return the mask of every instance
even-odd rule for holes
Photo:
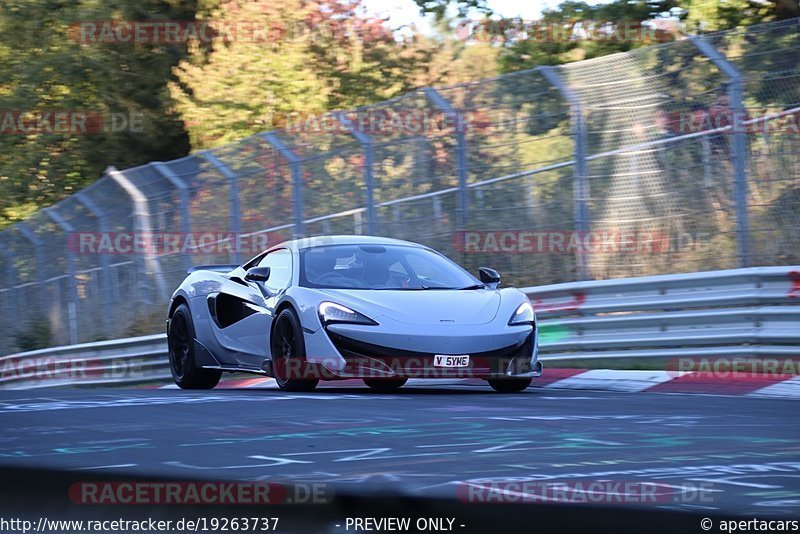
[[[623,506],[797,519],[798,408],[535,387],[2,391],[0,465],[461,500],[514,481],[612,480],[657,487],[656,502]]]

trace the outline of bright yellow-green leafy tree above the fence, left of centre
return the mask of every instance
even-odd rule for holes
[[[358,2],[230,0],[201,13],[222,28],[255,21],[267,38],[220,33],[175,70],[170,91],[195,149],[281,126],[284,118],[376,102],[402,89],[397,44]]]

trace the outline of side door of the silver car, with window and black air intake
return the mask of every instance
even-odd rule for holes
[[[249,281],[246,271],[234,272],[214,297],[215,321],[220,327],[219,341],[230,351],[235,365],[260,369],[270,356],[269,331],[275,307],[291,284],[292,254],[288,249],[273,250],[249,266],[269,267],[269,279]]]

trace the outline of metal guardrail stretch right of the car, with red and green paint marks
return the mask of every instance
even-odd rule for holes
[[[530,288],[542,360],[800,354],[800,267]]]

